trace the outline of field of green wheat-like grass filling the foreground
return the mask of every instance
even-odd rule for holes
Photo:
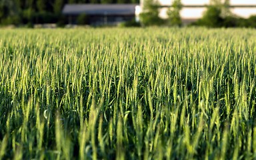
[[[255,159],[255,37],[0,30],[0,159]]]

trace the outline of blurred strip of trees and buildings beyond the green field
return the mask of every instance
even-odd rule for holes
[[[0,0],[0,25],[256,27],[255,0]]]

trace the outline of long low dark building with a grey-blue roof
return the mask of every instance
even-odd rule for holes
[[[138,4],[68,4],[63,7],[63,15],[69,24],[77,24],[79,15],[85,14],[88,25],[117,25],[135,19]]]

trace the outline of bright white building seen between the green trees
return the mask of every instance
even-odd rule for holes
[[[157,0],[161,5],[159,10],[159,17],[167,18],[167,9],[173,3],[173,0]],[[203,16],[207,5],[210,5],[211,0],[181,0],[183,8],[180,12],[183,21],[195,21]],[[222,0],[224,1],[224,0]],[[251,15],[256,15],[256,1],[255,0],[230,0],[231,12],[239,17],[248,18]],[[141,12],[143,8],[143,0],[137,9]],[[139,13],[137,13],[139,15]]]

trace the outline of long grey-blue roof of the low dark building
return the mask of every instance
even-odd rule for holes
[[[69,4],[65,5],[62,13],[64,15],[135,15],[135,6],[139,4]]]

